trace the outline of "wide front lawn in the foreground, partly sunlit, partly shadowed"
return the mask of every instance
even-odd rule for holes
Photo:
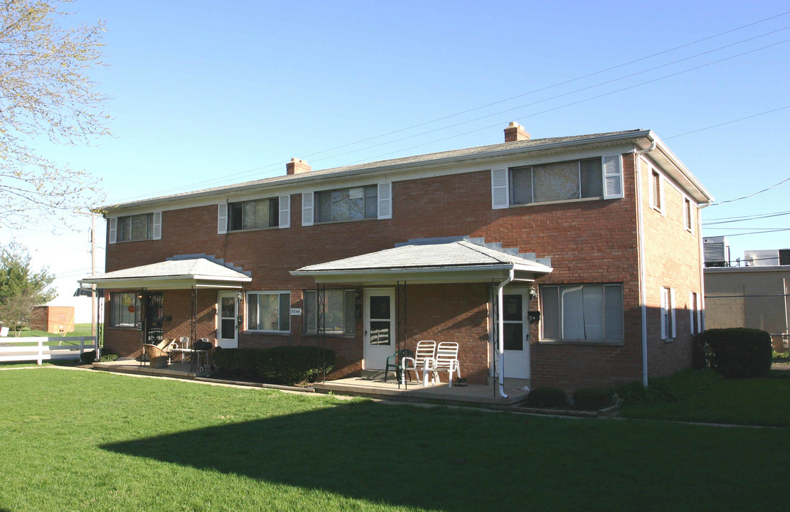
[[[777,510],[790,435],[0,371],[0,510]]]

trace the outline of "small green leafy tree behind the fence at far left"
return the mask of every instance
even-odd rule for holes
[[[33,307],[55,299],[57,292],[49,288],[55,276],[41,269],[32,272],[30,254],[18,243],[9,243],[0,250],[0,322],[15,331],[30,324]]]

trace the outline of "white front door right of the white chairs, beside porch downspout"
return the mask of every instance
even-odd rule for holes
[[[529,378],[529,290],[505,290],[502,295],[502,320],[505,335],[505,377]]]

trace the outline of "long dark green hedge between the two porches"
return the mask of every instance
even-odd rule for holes
[[[318,377],[324,357],[329,372],[335,364],[335,353],[327,349],[322,356],[319,347],[217,348],[214,364],[224,375],[290,385]]]

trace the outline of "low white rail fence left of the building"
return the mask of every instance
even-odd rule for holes
[[[63,344],[69,342],[69,344]],[[72,344],[74,343],[74,344]],[[9,361],[78,360],[82,352],[96,348],[96,337],[0,338],[0,363]]]

